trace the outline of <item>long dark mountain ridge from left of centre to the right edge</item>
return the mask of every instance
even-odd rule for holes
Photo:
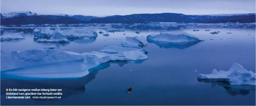
[[[254,23],[255,14],[234,16],[184,15],[181,13],[143,13],[132,15],[114,15],[91,19],[89,23],[148,23],[148,22],[177,22],[177,23]]]

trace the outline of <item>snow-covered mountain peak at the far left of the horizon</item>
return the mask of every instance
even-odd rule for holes
[[[19,16],[37,16],[37,14],[30,11],[22,11],[22,12],[3,13],[3,16],[5,18],[9,18],[9,17],[19,17]]]

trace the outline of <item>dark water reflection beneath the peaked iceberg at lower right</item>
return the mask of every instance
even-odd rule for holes
[[[252,85],[229,85],[228,82],[218,82],[218,81],[210,81],[207,79],[197,79],[199,82],[211,83],[212,87],[223,86],[228,94],[232,96],[236,95],[248,95],[250,90],[255,91],[255,86]]]

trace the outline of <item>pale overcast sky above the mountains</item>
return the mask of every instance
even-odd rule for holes
[[[1,13],[15,11],[92,16],[255,13],[255,0],[1,0]]]

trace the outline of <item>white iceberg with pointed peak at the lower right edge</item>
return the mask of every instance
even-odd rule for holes
[[[255,73],[246,70],[238,63],[234,63],[228,71],[214,69],[212,74],[199,74],[197,78],[226,81],[230,85],[255,85]]]

